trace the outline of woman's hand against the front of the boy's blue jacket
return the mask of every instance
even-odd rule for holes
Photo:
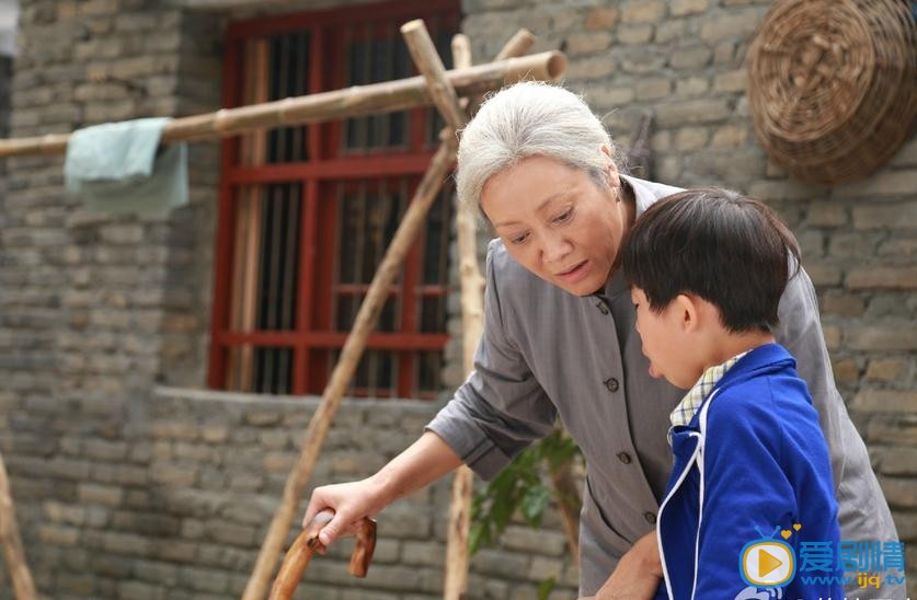
[[[656,544],[656,532],[652,531],[637,541],[627,554],[621,556],[611,577],[605,581],[595,600],[652,600],[662,580],[662,562]]]

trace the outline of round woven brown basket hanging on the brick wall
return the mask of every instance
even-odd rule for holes
[[[905,0],[778,0],[749,50],[755,135],[795,177],[864,177],[917,114],[917,36]]]

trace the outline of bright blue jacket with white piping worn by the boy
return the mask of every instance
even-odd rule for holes
[[[803,574],[834,581],[810,585],[799,573],[802,542],[837,549],[839,530],[818,415],[782,346],[736,362],[691,422],[673,427],[672,445],[657,598],[773,598],[776,587],[784,599],[844,598],[836,559]]]

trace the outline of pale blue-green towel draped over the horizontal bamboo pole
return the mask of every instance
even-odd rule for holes
[[[106,123],[73,131],[67,191],[96,212],[165,211],[187,204],[187,146],[159,150],[169,118]]]

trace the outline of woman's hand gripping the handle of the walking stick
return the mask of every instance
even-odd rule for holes
[[[319,532],[319,541],[328,547],[337,538],[355,533],[357,522],[372,517],[385,508],[381,487],[372,477],[358,482],[317,487],[302,517],[302,528],[309,526],[321,511],[332,511],[334,517]]]

